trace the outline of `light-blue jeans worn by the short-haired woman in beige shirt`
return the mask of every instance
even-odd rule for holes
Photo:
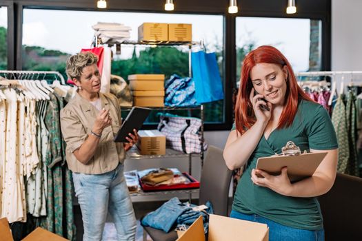
[[[73,173],[75,194],[81,207],[83,240],[101,240],[108,212],[118,240],[134,240],[136,217],[123,176],[123,165],[105,174]]]

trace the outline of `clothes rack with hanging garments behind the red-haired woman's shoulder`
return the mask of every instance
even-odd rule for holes
[[[361,176],[362,71],[297,72],[296,77],[300,85],[314,80],[317,89],[308,94],[330,112],[339,143],[337,171]]]

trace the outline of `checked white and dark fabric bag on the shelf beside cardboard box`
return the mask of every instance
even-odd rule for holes
[[[168,147],[186,154],[201,153],[208,149],[208,145],[202,141],[201,119],[172,114],[159,114],[159,116],[157,129],[166,136]]]

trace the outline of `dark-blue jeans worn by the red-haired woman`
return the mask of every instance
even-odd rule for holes
[[[243,214],[232,210],[230,218],[237,218],[241,220],[247,220],[252,222],[260,222],[267,224],[269,227],[269,241],[323,241],[324,229],[319,231],[312,231],[306,229],[294,229],[277,222],[273,222],[267,218],[263,218],[257,214]]]

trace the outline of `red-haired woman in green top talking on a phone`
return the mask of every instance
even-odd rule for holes
[[[257,159],[281,153],[288,141],[301,151],[327,151],[313,176],[290,182],[255,169]],[[235,127],[223,156],[229,169],[245,165],[232,205],[232,218],[268,224],[273,240],[324,240],[316,196],[330,190],[336,176],[337,142],[328,112],[296,83],[288,60],[272,46],[245,56],[235,106]]]

